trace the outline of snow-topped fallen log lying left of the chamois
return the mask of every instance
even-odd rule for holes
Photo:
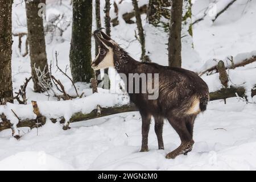
[[[127,104],[127,96],[110,93],[94,93],[67,101],[32,101],[27,105],[7,103],[0,106],[0,131],[12,129],[13,135],[18,136],[18,127],[32,129],[44,125],[47,119],[60,121],[64,123],[63,129],[68,129],[70,122],[137,110],[135,106]]]

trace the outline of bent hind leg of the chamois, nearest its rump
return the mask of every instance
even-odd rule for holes
[[[194,141],[192,139],[191,133],[188,131],[188,128],[186,126],[186,120],[187,119],[185,118],[168,118],[171,126],[179,135],[181,144],[174,151],[166,155],[167,159],[174,159],[177,155],[187,154],[189,151],[192,150]]]

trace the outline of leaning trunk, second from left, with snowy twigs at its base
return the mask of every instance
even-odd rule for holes
[[[38,7],[39,3],[46,3],[46,1],[26,1],[27,30],[34,91],[45,92],[51,86],[51,78],[47,64],[43,16],[38,14],[40,10],[40,7]]]

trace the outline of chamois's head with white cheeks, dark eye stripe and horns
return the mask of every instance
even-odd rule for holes
[[[101,36],[98,36],[98,35]],[[114,67],[114,46],[115,42],[101,30],[93,32],[94,39],[98,43],[98,55],[92,62],[94,70]]]

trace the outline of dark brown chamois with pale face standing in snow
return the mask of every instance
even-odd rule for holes
[[[209,101],[207,84],[192,71],[182,68],[164,67],[155,63],[141,63],[134,60],[129,53],[119,47],[108,35],[101,30],[93,33],[100,45],[99,53],[92,62],[94,70],[114,67],[119,74],[158,74],[158,98],[149,100],[149,93],[142,93],[142,81],[139,80],[139,93],[129,93],[129,78],[126,89],[141,114],[142,118],[142,147],[141,152],[148,151],[148,131],[151,117],[155,118],[155,133],[158,148],[164,149],[163,121],[168,119],[171,126],[179,134],[181,144],[174,151],[166,155],[167,159],[174,159],[177,155],[187,155],[193,146],[193,125],[196,116],[206,110]],[[153,81],[147,80],[147,85]],[[133,83],[134,86],[134,83]],[[156,88],[154,88],[156,89]]]

